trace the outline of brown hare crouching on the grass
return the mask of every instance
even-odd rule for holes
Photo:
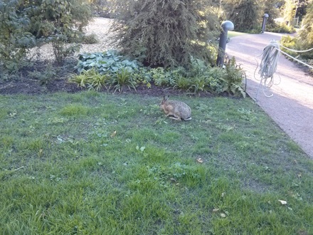
[[[163,98],[160,103],[160,108],[164,110],[166,117],[174,120],[191,120],[191,108],[184,102],[177,100],[169,100],[169,95],[167,98]]]

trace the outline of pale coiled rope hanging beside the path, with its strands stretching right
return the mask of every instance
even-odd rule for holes
[[[271,97],[272,94],[271,95],[265,94],[265,88],[270,89],[272,85],[278,85],[280,83],[280,81],[278,83],[274,83],[274,74],[277,70],[277,63],[278,63],[278,59],[280,56],[280,52],[285,54],[286,56],[289,56],[293,60],[304,64],[304,66],[308,66],[309,68],[313,69],[313,67],[309,66],[307,63],[299,61],[297,58],[290,56],[289,54],[285,53],[284,51],[281,51],[280,46],[282,46],[282,45],[280,45],[280,43],[277,43],[277,41],[273,40],[270,42],[269,45],[267,45],[264,48],[262,54],[260,55],[260,56],[262,56],[262,61],[260,63],[260,70],[258,71],[258,73],[260,74],[260,85],[259,85],[258,93],[256,95],[255,100],[258,100],[258,94],[259,94],[261,87],[262,87],[263,94],[266,97]],[[285,46],[282,46],[282,47],[285,48],[286,50],[294,51],[297,53],[304,53],[304,52],[313,50],[313,48],[310,48],[310,49],[304,50],[304,51],[296,51],[296,50],[287,48]],[[257,61],[257,63],[258,63],[258,61]],[[255,69],[255,72],[257,70],[258,70],[258,67]],[[255,77],[255,74],[254,74],[254,77]],[[258,78],[255,78],[255,79],[258,80]]]

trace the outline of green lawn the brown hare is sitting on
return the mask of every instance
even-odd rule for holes
[[[155,97],[0,96],[1,234],[313,234],[295,142],[248,98],[176,99],[190,122]]]

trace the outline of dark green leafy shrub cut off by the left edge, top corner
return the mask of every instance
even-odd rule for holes
[[[27,49],[36,45],[27,31],[28,17],[16,13],[18,4],[18,0],[0,2],[0,78],[23,66]]]

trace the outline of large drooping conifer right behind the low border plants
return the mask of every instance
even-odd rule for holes
[[[117,9],[113,28],[124,54],[165,67],[186,66],[191,56],[213,60],[208,41],[216,36],[219,23],[211,1],[131,0],[120,2]]]

